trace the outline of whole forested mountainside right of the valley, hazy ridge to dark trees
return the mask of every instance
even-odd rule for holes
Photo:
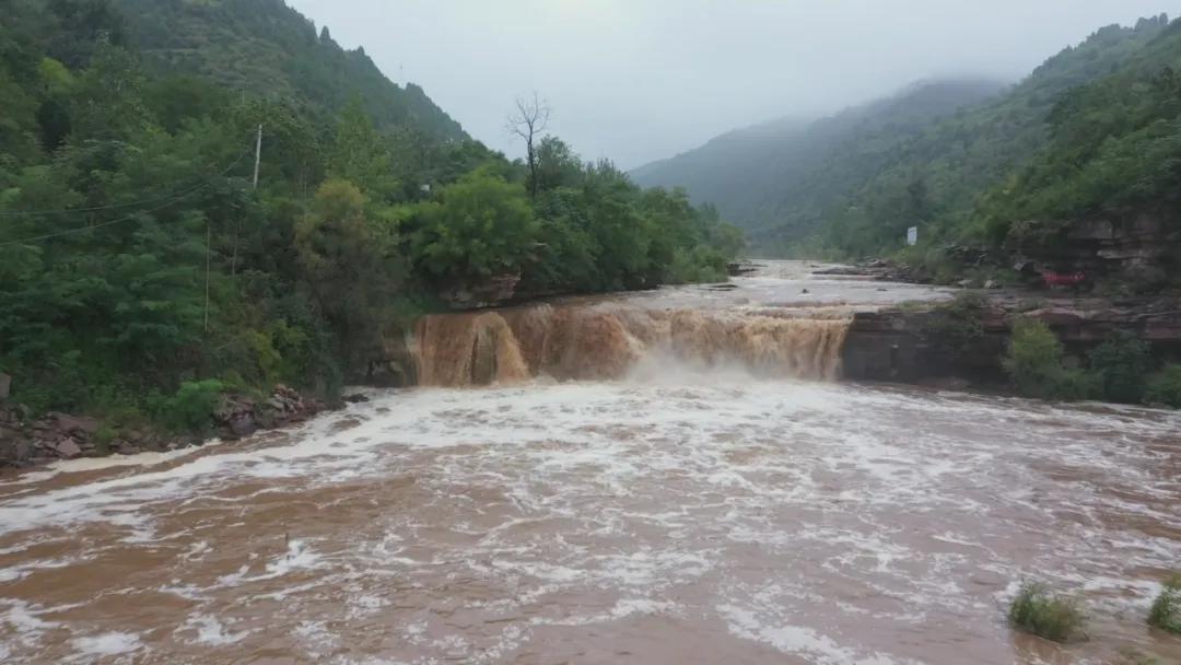
[[[634,171],[685,185],[765,255],[893,254],[950,278],[948,243],[1000,246],[1017,222],[1174,209],[1181,33],[1108,26],[1013,86],[935,80],[815,122],[739,130]],[[1036,223],[1035,226],[1039,226]]]

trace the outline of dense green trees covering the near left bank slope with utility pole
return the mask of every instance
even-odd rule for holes
[[[405,380],[389,341],[448,293],[720,279],[742,245],[556,137],[530,174],[364,94],[332,111],[333,91],[174,71],[122,6],[0,0],[0,373],[33,412],[200,430],[223,391],[332,399],[346,378]]]

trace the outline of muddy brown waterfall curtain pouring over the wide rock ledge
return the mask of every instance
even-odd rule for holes
[[[413,348],[418,382],[431,386],[511,384],[539,376],[619,379],[652,358],[739,365],[758,376],[839,378],[848,317],[790,314],[620,304],[433,314],[416,326]]]

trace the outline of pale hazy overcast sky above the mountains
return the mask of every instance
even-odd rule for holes
[[[520,93],[586,158],[633,168],[724,131],[821,115],[913,80],[1018,79],[1168,0],[288,0],[464,129],[518,156]]]

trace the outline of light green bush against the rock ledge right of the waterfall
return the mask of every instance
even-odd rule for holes
[[[1063,365],[1062,343],[1038,320],[1022,319],[1014,324],[1004,367],[1017,390],[1026,397],[1087,399],[1098,389],[1092,377]]]

